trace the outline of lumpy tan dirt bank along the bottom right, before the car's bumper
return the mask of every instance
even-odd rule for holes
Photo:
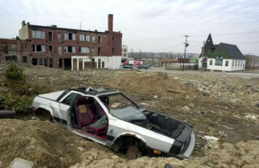
[[[135,160],[126,160],[116,155],[109,155],[105,152],[91,149],[82,153],[81,163],[77,163],[70,168],[79,167],[164,167],[166,164],[174,168],[181,167],[259,167],[259,141],[239,142],[236,145],[229,143],[217,143],[212,149],[207,150],[204,157],[192,157],[188,160],[176,158],[150,158],[141,157]]]

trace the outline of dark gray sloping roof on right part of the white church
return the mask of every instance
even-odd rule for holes
[[[220,43],[220,44],[228,52],[230,59],[240,59],[240,60],[246,59],[236,45],[226,44],[226,43]]]

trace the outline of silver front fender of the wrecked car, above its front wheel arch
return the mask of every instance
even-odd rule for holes
[[[122,121],[120,119],[109,119],[109,127],[107,132],[108,138],[107,147],[111,147],[116,139],[121,135],[133,135],[144,141],[146,145],[153,149],[158,149],[162,152],[169,152],[174,139],[165,135],[153,132],[138,125]]]

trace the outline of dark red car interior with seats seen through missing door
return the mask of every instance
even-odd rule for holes
[[[102,97],[101,101],[108,107],[108,97]],[[72,109],[71,119],[74,129],[103,141],[106,140],[108,118],[104,109],[94,98],[79,95]]]

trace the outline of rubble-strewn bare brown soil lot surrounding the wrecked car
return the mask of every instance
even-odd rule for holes
[[[0,167],[9,166],[15,157],[33,161],[35,167],[163,167],[166,163],[173,167],[258,167],[258,78],[180,76],[137,70],[77,72],[20,66],[31,85],[52,91],[86,86],[116,88],[145,108],[192,124],[198,137],[215,136],[222,143],[211,147],[197,138],[193,157],[184,161],[149,157],[127,160],[121,153],[41,121],[44,118],[31,120],[31,116],[20,116],[19,120],[0,121]],[[0,84],[6,67],[0,64]],[[12,92],[4,84],[0,91]]]

